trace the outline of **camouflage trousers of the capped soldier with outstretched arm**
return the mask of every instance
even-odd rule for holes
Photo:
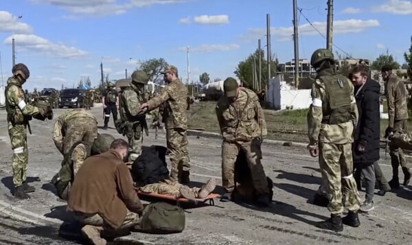
[[[166,129],[166,140],[169,150],[170,180],[178,181],[182,171],[190,171],[189,153],[187,152],[186,130],[181,128]]]

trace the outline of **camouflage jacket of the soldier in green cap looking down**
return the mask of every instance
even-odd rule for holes
[[[216,104],[216,115],[224,141],[246,142],[258,137],[263,139],[267,135],[258,95],[250,89],[241,88],[233,103],[222,95]]]

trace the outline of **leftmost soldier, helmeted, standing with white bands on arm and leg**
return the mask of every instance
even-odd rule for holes
[[[33,115],[45,115],[42,108],[31,106],[25,102],[25,93],[21,86],[30,76],[29,69],[22,63],[12,69],[13,76],[8,78],[5,88],[5,109],[7,111],[8,133],[12,145],[12,170],[14,196],[19,199],[27,199],[28,192],[33,192],[34,187],[26,181],[29,152],[27,150],[27,132],[29,121]],[[31,133],[31,132],[30,132]]]

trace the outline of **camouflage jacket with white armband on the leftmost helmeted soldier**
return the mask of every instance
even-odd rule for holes
[[[25,102],[25,93],[16,78],[8,78],[5,88],[5,110],[7,121],[11,124],[26,124],[27,116],[36,115],[38,108]]]

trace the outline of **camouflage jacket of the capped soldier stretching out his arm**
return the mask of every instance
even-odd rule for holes
[[[166,85],[159,95],[148,101],[149,110],[163,106],[161,116],[166,128],[187,130],[186,97],[186,86],[176,79]]]

